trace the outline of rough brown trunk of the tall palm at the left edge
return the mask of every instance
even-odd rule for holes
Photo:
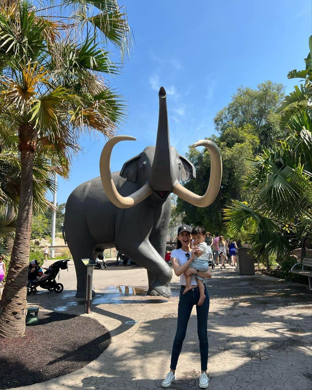
[[[25,333],[26,293],[32,225],[33,150],[21,148],[21,193],[9,272],[0,302],[0,337]]]

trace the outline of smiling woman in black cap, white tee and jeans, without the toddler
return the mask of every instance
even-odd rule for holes
[[[209,295],[204,285],[204,294],[206,299],[203,305],[198,306],[199,289],[194,276],[192,276],[192,289],[183,295],[186,286],[185,277],[189,275],[199,275],[202,278],[211,278],[211,272],[197,271],[194,268],[189,268],[192,261],[195,259],[197,249],[191,250],[191,232],[192,229],[188,225],[182,225],[178,228],[178,248],[171,252],[171,263],[176,276],[180,277],[180,296],[178,304],[178,318],[176,326],[175,340],[173,341],[170,371],[166,379],[162,381],[162,387],[169,387],[175,381],[175,370],[178,363],[178,358],[182,349],[183,340],[185,339],[187,324],[189,322],[192,308],[196,305],[197,314],[197,334],[199,339],[199,351],[201,356],[201,375],[199,378],[199,387],[207,388],[209,385],[209,378],[207,376],[207,362],[208,362],[208,338],[207,338],[207,321],[209,312]]]

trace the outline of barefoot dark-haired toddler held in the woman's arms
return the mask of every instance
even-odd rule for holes
[[[206,237],[206,232],[203,227],[195,227],[192,230],[192,238],[194,239],[194,248],[197,248],[197,254],[195,259],[193,260],[192,264],[190,265],[189,268],[194,268],[197,269],[197,271],[205,272],[208,271],[209,269],[209,259],[211,256],[211,248],[205,243],[205,237]],[[199,301],[197,303],[198,306],[203,305],[204,300],[206,299],[205,296],[205,287],[204,287],[204,279],[201,278],[200,276],[194,275],[197,281],[198,289],[199,289]],[[192,275],[188,276],[186,279],[186,287],[183,291],[183,295],[187,293],[192,287],[190,285]]]

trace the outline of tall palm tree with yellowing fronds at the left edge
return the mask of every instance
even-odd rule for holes
[[[47,16],[49,8],[36,10],[28,2],[6,4],[0,7],[0,105],[3,120],[18,135],[21,182],[16,235],[1,300],[0,336],[21,337],[35,152],[50,148],[51,158],[55,156],[62,169],[69,170],[81,135],[115,133],[124,105],[104,75],[118,73],[118,67],[100,46],[108,39],[123,55],[130,35],[126,15],[114,0],[64,0],[66,18],[53,16],[59,5],[51,5],[53,12]]]

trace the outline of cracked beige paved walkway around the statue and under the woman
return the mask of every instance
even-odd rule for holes
[[[206,282],[210,294],[209,388],[310,390],[311,291],[265,275],[240,276],[232,267],[212,272],[212,279]],[[28,303],[45,310],[81,314],[83,305],[74,298],[73,264],[68,273],[62,271],[60,282],[65,286],[62,294],[42,291],[30,296]],[[112,337],[104,353],[83,369],[19,389],[161,388],[175,336],[178,278],[173,277],[173,298],[168,300],[129,294],[127,287],[118,285],[146,290],[146,271],[94,270],[97,296],[90,316],[104,324]],[[130,320],[137,323],[125,324]],[[194,307],[176,370],[178,380],[171,387],[197,389],[199,368]]]

